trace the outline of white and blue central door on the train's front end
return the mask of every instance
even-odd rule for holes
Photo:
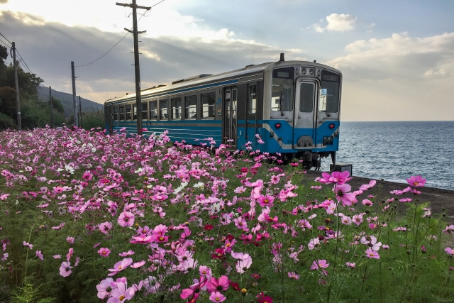
[[[319,92],[316,81],[299,79],[295,96],[293,125],[293,146],[296,149],[308,148],[316,138],[316,96]]]

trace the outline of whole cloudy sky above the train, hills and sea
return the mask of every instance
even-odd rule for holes
[[[135,91],[132,10],[117,1],[131,3],[0,0],[0,33],[52,89],[72,93],[74,61],[76,94],[102,104]],[[454,120],[452,0],[159,2],[137,0],[153,6],[138,10],[142,88],[285,53],[343,72],[342,121]]]

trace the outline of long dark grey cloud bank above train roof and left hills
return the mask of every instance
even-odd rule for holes
[[[134,92],[133,38],[124,33],[109,33],[97,28],[64,26],[61,23],[35,22],[27,14],[0,13],[2,33],[13,37],[28,67],[46,86],[71,92],[70,63],[74,61],[76,91],[82,97],[103,103],[106,99]],[[235,33],[220,28],[217,38],[175,36],[140,37],[140,79],[142,87],[170,84],[177,79],[200,74],[217,74],[250,64],[279,60],[301,60],[299,49],[282,49],[255,40],[235,39]],[[214,36],[214,35],[213,35]],[[211,36],[212,37],[212,36]],[[100,60],[82,67],[100,57]]]

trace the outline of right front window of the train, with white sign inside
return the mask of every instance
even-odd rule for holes
[[[341,75],[328,72],[327,70],[321,72],[319,111],[328,111],[328,113],[338,112],[339,87],[341,87]]]

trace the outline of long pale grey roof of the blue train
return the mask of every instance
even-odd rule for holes
[[[172,84],[170,84],[170,85],[158,85],[156,87],[149,87],[146,89],[141,89],[140,95],[142,97],[146,97],[147,95],[150,95],[150,94],[156,94],[159,92],[167,92],[167,91],[170,91],[173,89],[181,89],[184,87],[191,87],[196,84],[201,84],[201,83],[206,83],[206,82],[216,82],[217,80],[226,79],[226,77],[236,77],[239,75],[254,74],[255,72],[263,72],[265,70],[265,68],[271,64],[275,65],[276,67],[287,66],[287,65],[310,65],[312,67],[326,68],[328,70],[338,72],[339,74],[342,75],[341,71],[339,71],[333,67],[330,67],[328,65],[323,65],[323,64],[320,64],[317,62],[310,62],[310,61],[265,62],[265,63],[259,64],[259,65],[247,65],[246,67],[240,68],[238,70],[232,70],[230,72],[223,72],[221,74],[216,74],[216,75],[202,74],[202,75],[197,75],[194,77],[176,80],[176,81],[172,82]],[[111,102],[118,102],[123,99],[135,99],[135,93],[127,94],[126,96],[119,97],[119,98],[108,99],[108,100],[104,101],[104,104],[111,103]]]

